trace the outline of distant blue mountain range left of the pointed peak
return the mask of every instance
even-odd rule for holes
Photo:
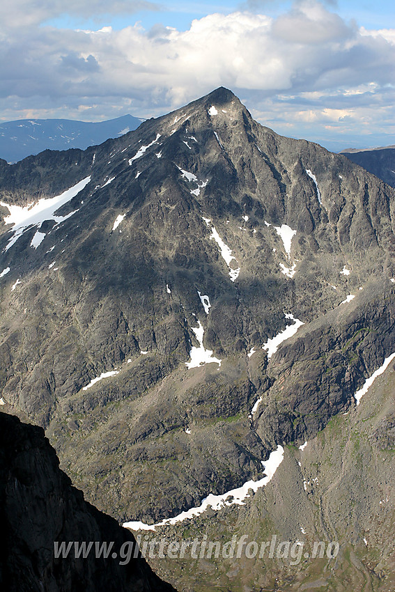
[[[0,125],[0,158],[17,162],[43,150],[97,146],[136,130],[144,119],[124,115],[92,123],[72,119],[19,119]]]

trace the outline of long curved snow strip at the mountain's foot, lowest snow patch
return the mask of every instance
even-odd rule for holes
[[[208,497],[203,499],[201,506],[196,508],[190,508],[185,512],[178,514],[178,516],[174,516],[173,518],[166,518],[162,520],[162,522],[157,522],[157,524],[148,525],[144,524],[144,522],[125,522],[123,527],[130,528],[132,530],[153,530],[155,531],[156,527],[165,526],[166,524],[176,524],[177,522],[183,522],[183,520],[187,520],[188,518],[192,518],[194,516],[199,516],[203,514],[207,510],[207,508],[212,508],[214,511],[219,511],[224,506],[231,506],[233,504],[237,504],[238,506],[245,506],[245,499],[251,497],[249,494],[249,490],[252,490],[254,493],[268,485],[270,481],[281,465],[281,462],[284,459],[284,448],[282,446],[277,446],[277,450],[274,450],[270,453],[268,460],[262,461],[263,470],[265,473],[265,477],[261,478],[259,481],[247,481],[244,485],[241,485],[240,488],[236,488],[230,490],[222,495],[214,495],[210,493]]]

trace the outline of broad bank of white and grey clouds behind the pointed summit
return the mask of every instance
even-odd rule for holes
[[[18,0],[19,10],[24,1]],[[263,10],[264,4],[255,3]],[[95,0],[90,10],[138,5]],[[61,10],[60,0],[38,6],[46,18]],[[86,8],[73,0],[73,10]],[[321,124],[323,134],[325,125],[357,133],[362,123],[378,132],[394,119],[395,31],[359,29],[318,1],[298,1],[276,19],[248,11],[207,15],[187,31],[31,26],[22,37],[12,28],[4,35],[0,108],[7,118],[17,118],[8,116],[15,112],[7,111],[10,104],[33,109],[30,117],[78,117],[84,110],[92,119],[127,111],[150,117],[226,86],[279,132],[290,122],[295,135],[307,130],[298,122]],[[52,115],[49,105],[57,108]]]

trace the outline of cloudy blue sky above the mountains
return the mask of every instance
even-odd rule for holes
[[[0,120],[160,116],[218,86],[279,134],[395,144],[389,0],[3,0]]]

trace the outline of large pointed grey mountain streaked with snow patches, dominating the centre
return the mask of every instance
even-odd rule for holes
[[[394,189],[224,88],[0,187],[3,410],[118,520],[261,478],[395,352]]]

